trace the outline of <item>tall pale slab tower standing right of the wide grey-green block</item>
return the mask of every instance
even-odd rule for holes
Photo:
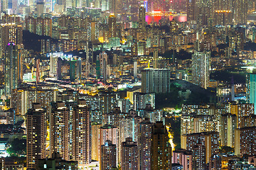
[[[210,52],[196,51],[192,55],[192,83],[207,89],[210,79]]]

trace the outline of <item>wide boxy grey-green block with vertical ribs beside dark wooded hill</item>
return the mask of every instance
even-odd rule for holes
[[[169,93],[170,77],[169,69],[143,69],[142,93]]]

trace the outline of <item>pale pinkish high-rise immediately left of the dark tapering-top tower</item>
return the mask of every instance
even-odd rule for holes
[[[139,170],[150,169],[150,149],[151,149],[151,133],[153,123],[149,121],[149,118],[142,120],[138,128],[138,162]]]

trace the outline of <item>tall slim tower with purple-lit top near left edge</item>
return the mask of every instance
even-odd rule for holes
[[[18,47],[9,42],[5,55],[5,94],[11,96],[11,90],[18,87]]]

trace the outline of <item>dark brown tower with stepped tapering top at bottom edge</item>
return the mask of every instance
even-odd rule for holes
[[[153,125],[151,136],[151,170],[171,169],[171,145],[163,122]]]

